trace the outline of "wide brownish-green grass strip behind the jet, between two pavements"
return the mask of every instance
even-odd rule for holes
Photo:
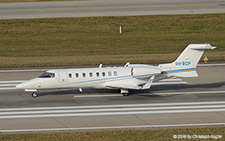
[[[190,43],[224,61],[224,25],[225,14],[0,20],[0,67],[171,62]]]

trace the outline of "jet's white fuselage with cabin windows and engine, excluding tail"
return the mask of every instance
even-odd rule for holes
[[[107,84],[144,85],[151,76],[161,74],[157,67],[133,66],[133,67],[104,67],[81,69],[55,69],[46,73],[54,74],[54,77],[37,77],[17,85],[17,88],[27,91],[37,89],[54,88],[113,88]]]

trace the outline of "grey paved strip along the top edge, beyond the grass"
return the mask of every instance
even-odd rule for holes
[[[225,13],[224,0],[99,0],[0,4],[0,19]]]

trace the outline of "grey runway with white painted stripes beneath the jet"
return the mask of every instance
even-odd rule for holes
[[[14,89],[45,68],[0,70],[0,132],[152,129],[225,125],[225,64],[198,66],[198,78],[170,78],[150,90]]]

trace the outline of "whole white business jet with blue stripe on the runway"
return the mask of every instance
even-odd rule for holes
[[[118,89],[123,96],[129,90],[150,89],[153,81],[169,77],[197,77],[197,64],[206,49],[216,47],[210,44],[189,44],[172,63],[152,66],[126,63],[123,67],[54,69],[37,78],[18,84],[16,88],[32,92],[35,98],[38,90],[76,88]]]

